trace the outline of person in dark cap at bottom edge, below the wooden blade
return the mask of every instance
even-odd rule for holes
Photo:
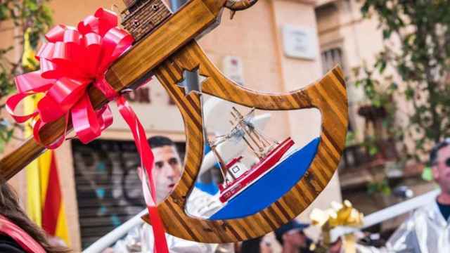
[[[308,226],[293,220],[275,231],[276,240],[283,247],[282,253],[312,252],[309,249],[312,240],[303,232]]]

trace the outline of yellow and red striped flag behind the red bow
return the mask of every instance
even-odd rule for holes
[[[22,65],[24,69],[32,70],[39,65],[34,58],[34,51],[30,46],[27,30],[24,34],[24,52]],[[24,112],[34,112],[37,101],[41,96],[25,98]],[[32,126],[25,126],[25,136],[32,135]],[[49,235],[57,236],[70,245],[68,226],[63,205],[58,167],[53,150],[47,150],[39,158],[26,167],[27,178],[27,214],[30,219],[46,231]]]

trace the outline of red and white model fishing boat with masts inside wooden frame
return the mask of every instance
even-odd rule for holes
[[[224,136],[218,136],[215,143],[210,144],[211,150],[219,161],[221,167],[221,174],[224,177],[224,183],[219,185],[221,202],[228,202],[243,192],[246,188],[252,186],[264,175],[274,169],[276,164],[280,162],[281,158],[294,145],[292,138],[288,137],[283,142],[271,140],[262,134],[254,124],[252,124],[252,117],[254,117],[255,109],[252,109],[247,115],[242,115],[236,108],[232,108],[231,115],[234,121],[231,120],[233,128]],[[240,164],[242,156],[235,157],[228,163],[225,163],[219,152],[217,152],[217,145],[231,138],[242,138],[245,144],[257,157],[257,162],[248,170],[245,170]]]

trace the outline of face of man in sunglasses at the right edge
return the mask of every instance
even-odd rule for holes
[[[437,162],[432,167],[432,171],[442,191],[450,194],[450,167],[446,164],[448,159],[450,159],[450,145],[441,148],[437,152]]]

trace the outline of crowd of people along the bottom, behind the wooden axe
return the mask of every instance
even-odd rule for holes
[[[157,201],[162,202],[181,178],[181,159],[176,145],[169,138],[155,136],[149,140],[155,155],[153,178]],[[399,226],[383,247],[356,243],[356,252],[450,252],[450,138],[435,145],[430,153],[430,166],[441,193],[432,205],[417,209]],[[136,169],[136,173],[138,170]],[[204,218],[221,208],[217,196],[194,188],[187,211]],[[18,197],[6,182],[0,188],[0,252],[70,252],[68,247],[49,238],[20,208]],[[290,221],[275,231],[276,241],[283,253],[314,252],[317,248],[304,229],[309,224]],[[191,242],[166,235],[169,252],[274,252],[271,242],[255,238],[240,243],[223,245]],[[104,252],[153,252],[153,234],[144,223]],[[328,252],[344,252],[338,239]]]

